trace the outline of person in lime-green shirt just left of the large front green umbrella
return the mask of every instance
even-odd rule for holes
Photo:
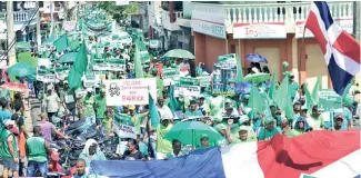
[[[164,159],[168,152],[172,151],[172,144],[164,139],[166,135],[173,127],[173,119],[161,118],[161,123],[157,128],[157,159]]]

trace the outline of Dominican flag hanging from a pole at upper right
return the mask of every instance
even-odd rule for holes
[[[320,44],[334,91],[342,96],[360,70],[360,43],[333,21],[329,6],[323,1],[311,3],[305,27]]]

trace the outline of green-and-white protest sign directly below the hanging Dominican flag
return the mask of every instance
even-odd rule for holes
[[[319,110],[331,111],[342,108],[342,97],[333,90],[319,91]]]

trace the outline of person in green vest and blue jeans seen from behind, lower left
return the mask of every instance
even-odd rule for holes
[[[28,148],[28,175],[36,176],[37,169],[41,177],[46,177],[48,172],[48,155],[51,155],[52,149],[46,139],[41,138],[41,127],[33,127],[33,137],[27,140]]]

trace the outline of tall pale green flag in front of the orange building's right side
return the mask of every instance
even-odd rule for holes
[[[289,93],[289,76],[285,76],[282,80],[282,83],[274,95],[274,103],[285,112],[288,119],[293,118],[293,103],[291,100],[291,96]]]

